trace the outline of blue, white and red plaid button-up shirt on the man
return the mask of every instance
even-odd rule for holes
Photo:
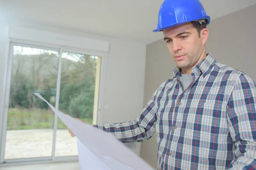
[[[192,68],[187,89],[180,78],[175,68],[135,120],[95,126],[121,142],[141,142],[156,132],[159,170],[256,169],[253,80],[212,54]]]

